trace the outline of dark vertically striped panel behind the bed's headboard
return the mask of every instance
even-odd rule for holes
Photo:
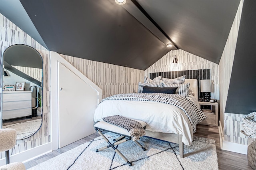
[[[184,70],[184,71],[166,71],[159,73],[149,73],[149,78],[154,79],[158,76],[162,76],[168,79],[175,79],[177,77],[186,75],[186,79],[197,79],[198,83],[198,98],[203,97],[200,93],[200,80],[211,79],[210,69],[200,69],[200,70]],[[211,94],[212,96],[212,94]]]

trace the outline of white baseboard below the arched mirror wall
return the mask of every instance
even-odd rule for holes
[[[47,154],[49,152],[52,152],[52,142],[12,155],[10,156],[10,163],[12,162],[25,163],[30,160],[36,159],[44,154]],[[2,165],[5,165],[5,158],[0,160],[0,166]]]

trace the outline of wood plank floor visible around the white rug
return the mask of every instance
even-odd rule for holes
[[[219,138],[218,127],[198,125],[195,135],[216,140],[218,164],[219,164],[220,170],[253,170],[248,165],[247,155],[220,150],[220,138]],[[63,148],[54,150],[53,152],[50,152],[44,156],[41,156],[39,158],[26,162],[25,163],[26,169],[36,166],[37,164],[40,164],[70,149],[73,149],[79,146],[80,144],[84,144],[85,142],[88,142],[89,140],[92,140],[98,136],[99,136],[98,133],[94,133],[90,136],[87,136],[86,138],[82,138],[72,144],[64,146]]]

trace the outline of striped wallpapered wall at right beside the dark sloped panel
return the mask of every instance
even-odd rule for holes
[[[240,133],[240,130],[242,130],[241,124],[243,115],[224,113],[224,111],[226,107],[226,100],[228,97],[228,88],[230,84],[232,66],[236,51],[236,41],[238,37],[243,3],[244,0],[241,0],[219,63],[220,121],[223,128],[224,139],[228,142],[235,142],[239,144],[247,144],[247,137],[244,134]]]

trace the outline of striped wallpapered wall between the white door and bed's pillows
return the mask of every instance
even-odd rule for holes
[[[144,71],[60,54],[102,89],[102,99],[118,93],[137,93]]]

